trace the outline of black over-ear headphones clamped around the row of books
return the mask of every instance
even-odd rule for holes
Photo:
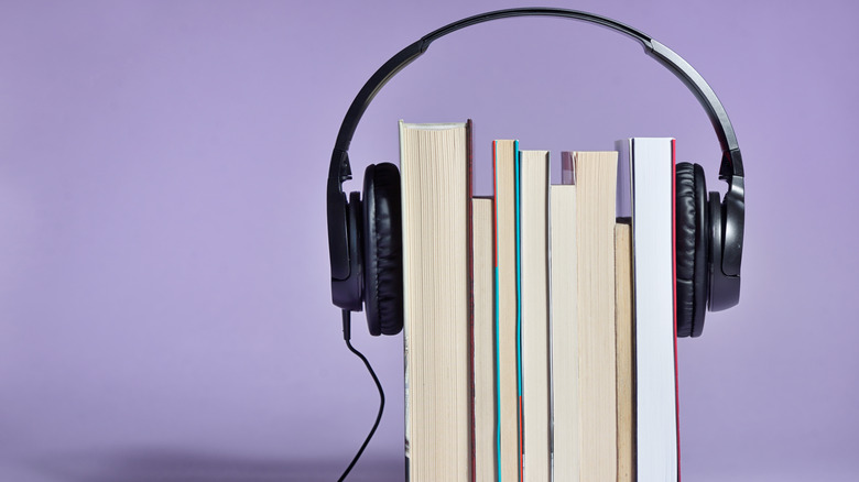
[[[363,85],[337,133],[328,168],[328,249],[331,299],[347,311],[367,309],[370,333],[396,335],[403,328],[402,227],[400,173],[382,163],[367,167],[363,197],[342,183],[351,179],[349,144],[365,110],[396,73],[449,33],[510,17],[561,17],[596,23],[641,42],[648,55],[676,75],[692,90],[716,130],[721,146],[719,179],[728,183],[724,199],[707,193],[704,169],[679,163],[675,178],[677,336],[698,337],[706,309],[719,311],[740,299],[740,264],[746,221],[742,156],[728,114],[716,94],[695,69],[668,47],[615,20],[592,13],[526,8],[487,12],[445,25],[406,46],[384,63]]]

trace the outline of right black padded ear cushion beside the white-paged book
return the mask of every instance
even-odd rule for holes
[[[679,163],[675,174],[677,337],[698,337],[707,306],[707,186],[704,168]]]

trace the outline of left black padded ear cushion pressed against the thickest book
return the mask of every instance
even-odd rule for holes
[[[403,329],[403,250],[400,172],[391,163],[363,174],[365,305],[370,335]]]

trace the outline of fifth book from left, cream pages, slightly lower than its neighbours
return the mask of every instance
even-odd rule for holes
[[[573,158],[562,154],[562,183],[548,188],[552,470],[579,481],[578,325],[576,322],[576,186]]]

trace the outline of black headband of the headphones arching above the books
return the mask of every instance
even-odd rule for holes
[[[351,167],[349,165],[348,154],[349,144],[351,143],[355,131],[358,128],[358,122],[360,122],[367,107],[369,107],[379,90],[381,90],[394,75],[426,52],[432,42],[470,25],[512,17],[568,18],[602,25],[631,36],[644,46],[648,55],[668,68],[668,70],[674,73],[674,75],[692,90],[695,98],[698,99],[702,107],[704,107],[704,110],[707,112],[707,116],[716,130],[716,135],[719,139],[719,145],[722,151],[719,178],[725,179],[728,183],[728,193],[726,194],[726,207],[728,212],[726,212],[726,217],[724,218],[724,222],[727,224],[725,232],[729,233],[729,238],[732,240],[726,240],[726,243],[730,247],[739,248],[739,250],[731,250],[731,252],[740,253],[742,250],[744,224],[744,171],[742,167],[742,156],[740,154],[740,146],[737,143],[737,136],[733,133],[733,127],[728,119],[728,113],[725,111],[721,101],[716,97],[716,92],[710,88],[707,81],[704,80],[704,77],[671,48],[653,40],[650,35],[623,23],[578,10],[523,8],[481,13],[458,20],[431,32],[388,59],[388,62],[379,67],[379,69],[367,80],[358,92],[358,96],[352,100],[352,103],[349,106],[349,110],[346,112],[346,117],[340,124],[340,131],[337,133],[337,141],[334,146],[334,152],[331,153],[331,163],[328,168],[327,200],[331,277],[334,280],[345,280],[348,277],[350,271],[347,250],[347,228],[346,221],[342,218],[346,206],[342,183],[351,178]],[[728,245],[725,248],[728,248]],[[739,276],[740,261],[739,254],[736,256],[726,256],[722,259],[722,272],[728,276]]]

